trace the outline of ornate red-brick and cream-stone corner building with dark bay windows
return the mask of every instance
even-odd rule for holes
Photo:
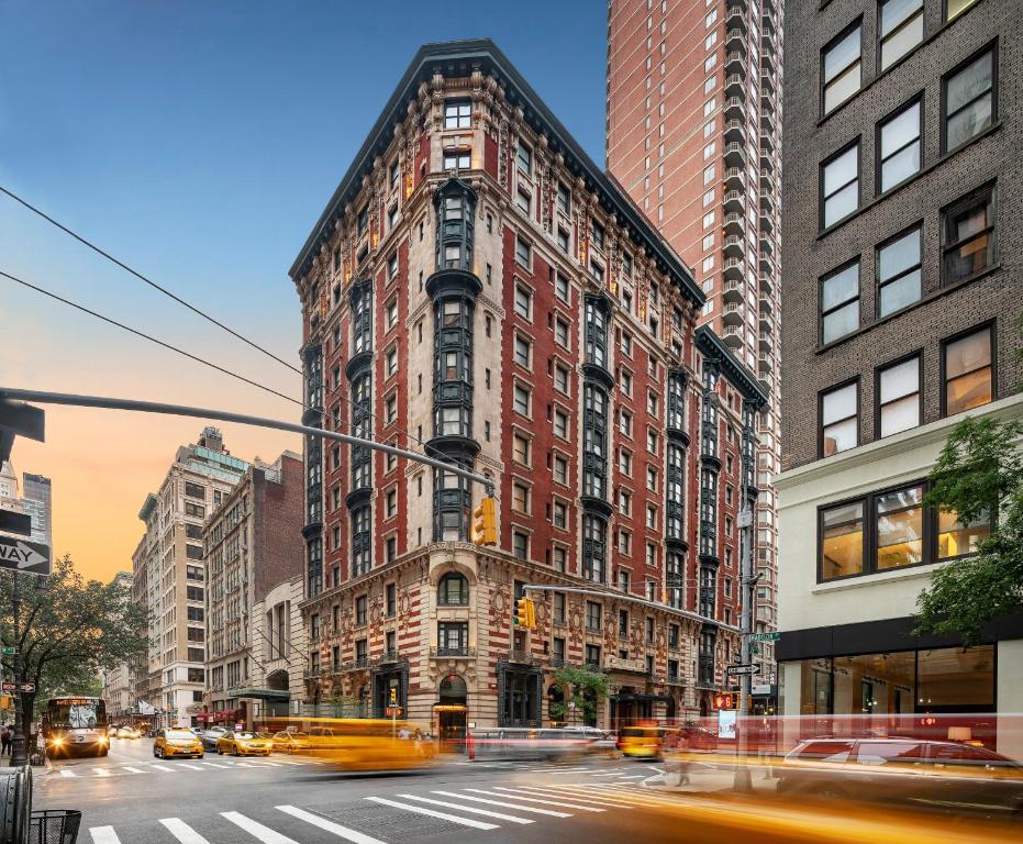
[[[309,438],[308,701],[382,715],[393,690],[444,735],[538,725],[552,671],[586,664],[610,675],[601,724],[707,713],[766,396],[491,42],[416,54],[290,274],[305,422],[488,475],[499,512],[477,547],[482,489]],[[533,631],[526,584],[551,588]]]

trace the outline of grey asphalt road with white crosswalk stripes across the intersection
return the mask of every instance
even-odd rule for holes
[[[429,771],[349,774],[301,756],[154,759],[152,740],[58,759],[36,776],[34,809],[78,809],[81,844],[429,844],[677,842],[643,788],[655,767],[445,762]],[[688,837],[693,841],[694,839]]]

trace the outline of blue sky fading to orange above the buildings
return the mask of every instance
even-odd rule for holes
[[[294,360],[288,268],[419,46],[491,37],[603,162],[604,0],[0,0],[0,185]],[[296,398],[300,378],[0,195],[0,270]],[[297,406],[0,277],[0,387]],[[203,422],[51,406],[12,462],[53,479],[54,554],[131,570],[138,520]],[[301,451],[219,425],[237,457]]]

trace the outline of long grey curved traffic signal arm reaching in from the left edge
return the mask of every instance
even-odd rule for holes
[[[66,392],[48,392],[45,390],[20,390],[8,387],[0,387],[0,399],[22,399],[24,401],[37,401],[42,404],[68,404],[76,408],[102,408],[104,410],[130,410],[140,413],[160,413],[170,417],[193,417],[196,419],[215,419],[221,422],[237,422],[242,425],[255,425],[257,427],[273,427],[277,431],[290,431],[296,434],[305,434],[307,436],[320,436],[324,440],[336,440],[337,442],[348,443],[349,445],[362,445],[366,448],[372,448],[385,454],[393,454],[396,457],[404,457],[409,460],[433,466],[435,469],[443,469],[452,475],[458,475],[474,484],[481,484],[487,496],[493,496],[493,478],[486,475],[477,475],[475,471],[464,469],[457,464],[446,463],[435,457],[427,457],[418,452],[410,452],[408,448],[399,448],[397,445],[378,443],[376,440],[364,440],[351,434],[342,434],[340,431],[326,431],[322,427],[311,427],[309,425],[297,425],[292,422],[281,422],[276,419],[266,419],[265,417],[252,417],[247,413],[232,413],[226,410],[214,410],[212,408],[192,408],[186,404],[166,404],[158,401],[137,401],[135,399],[116,399],[105,396],[76,396]]]

